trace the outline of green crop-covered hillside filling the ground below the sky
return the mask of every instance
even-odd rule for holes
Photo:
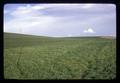
[[[5,79],[114,79],[116,40],[4,33]]]

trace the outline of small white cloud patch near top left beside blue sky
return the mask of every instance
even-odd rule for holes
[[[26,5],[26,6],[18,6],[14,11],[12,11],[10,14],[14,17],[30,17],[30,16],[38,16],[42,15],[42,10],[45,9],[45,7],[40,5]]]

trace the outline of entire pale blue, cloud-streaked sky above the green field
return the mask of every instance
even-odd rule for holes
[[[4,32],[50,37],[116,36],[116,5],[6,4]]]

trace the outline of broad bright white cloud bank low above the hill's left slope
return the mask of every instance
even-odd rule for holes
[[[49,16],[15,18],[4,23],[4,31],[20,33],[21,28],[22,33],[30,34],[35,30],[48,31],[53,24],[55,24],[55,19]]]

